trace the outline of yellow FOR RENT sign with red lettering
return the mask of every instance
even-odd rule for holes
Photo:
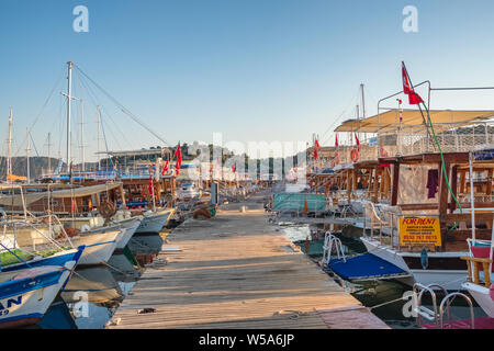
[[[441,246],[439,218],[400,218],[400,246]]]

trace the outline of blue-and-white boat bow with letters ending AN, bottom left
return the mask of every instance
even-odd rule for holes
[[[67,284],[85,247],[0,271],[0,328],[36,324]]]

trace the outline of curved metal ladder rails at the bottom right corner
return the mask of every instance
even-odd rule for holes
[[[436,293],[434,292],[434,287],[442,291],[446,295],[439,305],[439,310],[437,308],[437,298],[436,298]],[[433,298],[433,308],[434,309],[427,308],[422,305],[422,297],[423,297],[424,293],[426,293],[426,292],[429,293]],[[422,327],[422,319],[426,318],[430,321],[435,321],[437,328],[445,329],[445,320],[444,320],[445,307],[446,307],[446,313],[448,315],[448,322],[451,322],[451,299],[457,296],[463,297],[463,299],[465,299],[467,303],[469,304],[471,328],[472,329],[475,328],[475,324],[474,324],[475,316],[473,313],[472,299],[469,296],[467,296],[465,294],[459,293],[459,292],[448,294],[448,291],[442,285],[429,284],[426,286],[420,283],[414,284],[413,293],[414,293],[413,298],[416,298],[416,307],[414,308],[414,310],[417,314],[418,328]]]

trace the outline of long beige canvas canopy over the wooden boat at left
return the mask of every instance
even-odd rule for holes
[[[93,194],[99,194],[99,193],[119,188],[121,185],[122,185],[121,182],[115,182],[115,183],[108,183],[108,184],[99,184],[99,185],[91,185],[91,186],[50,191],[49,197],[52,197],[52,199],[71,199],[71,197],[90,196]],[[48,197],[48,192],[37,192],[37,193],[24,194],[24,201],[25,201],[26,205],[30,205],[38,200],[47,199],[47,197]],[[22,206],[22,196],[20,194],[18,194],[18,195],[0,197],[0,205],[20,207],[20,206]]]

